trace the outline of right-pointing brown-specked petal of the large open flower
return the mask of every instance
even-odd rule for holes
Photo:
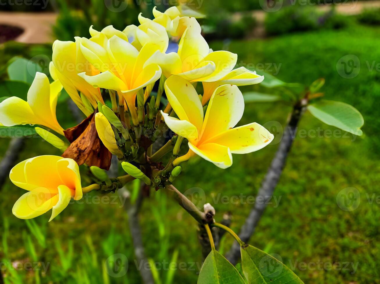
[[[216,143],[230,148],[233,154],[247,154],[265,147],[273,140],[273,134],[253,122],[226,130],[204,143]]]

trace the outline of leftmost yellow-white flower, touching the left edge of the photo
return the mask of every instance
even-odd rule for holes
[[[0,103],[0,123],[4,126],[39,124],[63,134],[55,115],[61,90],[59,81],[50,84],[44,73],[37,72],[28,91],[28,101],[10,97]]]

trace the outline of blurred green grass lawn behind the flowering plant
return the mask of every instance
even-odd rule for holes
[[[238,60],[243,65],[281,63],[277,76],[284,81],[310,84],[317,78],[326,78],[322,89],[326,98],[349,103],[364,116],[364,139],[352,135],[347,138],[296,137],[275,190],[275,196],[281,197],[279,206],[268,206],[250,240],[250,244],[260,249],[266,248],[268,253],[279,254],[288,267],[295,265],[294,272],[305,283],[380,283],[380,204],[370,204],[367,201],[367,195],[371,197],[373,193],[379,194],[380,141],[377,133],[380,126],[380,73],[370,72],[366,67],[366,61],[372,62],[380,58],[379,31],[380,28],[352,26],[340,31],[315,31],[270,39],[233,41],[229,47],[230,51],[238,54]],[[223,42],[211,44],[214,50],[221,49],[222,46]],[[358,56],[361,62],[360,73],[353,79],[342,78],[336,71],[337,61],[347,54]],[[252,88],[257,89],[257,86],[245,87],[243,90]],[[67,108],[60,106],[60,109],[59,120],[63,121],[67,117]],[[239,124],[252,121],[264,124],[274,120],[285,125],[290,110],[290,106],[282,103],[247,104]],[[306,113],[299,130],[316,130],[318,127],[335,129],[323,125]],[[3,155],[7,144],[7,139],[2,139],[0,155]],[[210,203],[214,202],[213,198],[224,195],[231,197],[242,193],[254,196],[277,146],[278,144],[269,145],[256,153],[234,155],[234,164],[227,170],[218,169],[203,159],[190,161],[183,167],[183,173],[174,185],[182,192],[192,187],[200,187],[206,193],[206,201]],[[20,161],[40,154],[59,152],[49,147],[46,142],[30,139],[20,155]],[[356,187],[360,192],[361,203],[355,211],[346,212],[337,206],[337,193],[346,187]],[[8,255],[12,261],[22,261],[28,256],[21,232],[28,232],[28,229],[25,221],[11,214],[11,209],[24,190],[8,182],[1,193],[0,216],[9,220]],[[202,261],[196,236],[197,225],[182,208],[173,201],[166,200],[162,192],[159,194],[159,197],[155,197],[157,193],[151,192],[141,209],[146,254],[154,261],[162,263],[170,261],[171,254],[178,249],[177,262],[184,262],[185,269],[176,271],[174,283],[195,283],[198,268],[197,263],[193,262],[200,265]],[[224,204],[221,201],[213,205],[217,212],[216,220],[220,220],[224,212],[233,213],[231,228],[235,231],[239,231],[251,208],[249,204]],[[161,218],[164,218],[163,224],[154,217],[157,208],[161,212]],[[47,215],[49,214],[37,218],[36,221],[40,224],[47,223]],[[165,237],[169,237],[167,253],[161,251],[162,243],[159,242],[159,228],[162,225],[165,226]],[[123,253],[129,259],[127,280],[125,277],[111,278],[111,282],[122,282],[122,279],[128,283],[141,282],[133,260],[128,218],[119,204],[70,204],[46,226],[47,248],[43,250],[36,245],[37,253],[43,255],[43,260],[51,262],[49,272],[42,276],[43,282],[79,281],[73,274],[67,273],[68,276],[64,277],[62,273],[58,273],[62,265],[55,249],[55,239],[60,240],[63,250],[67,250],[69,239],[74,242],[74,261],[69,272],[75,273],[81,269],[80,271],[87,270],[90,273],[93,271],[89,269],[91,265],[83,263],[84,251],[88,250],[86,236],[92,237],[100,265],[109,256],[102,247],[102,242],[109,237],[111,228],[118,236],[113,253]],[[225,251],[232,241],[230,236],[225,237]],[[300,265],[301,262],[310,264],[318,261],[323,264],[358,263],[358,268],[353,273],[351,265],[348,265],[351,268],[349,270],[304,270]],[[167,272],[160,273],[165,275]],[[33,282],[33,273],[28,272],[27,279]]]

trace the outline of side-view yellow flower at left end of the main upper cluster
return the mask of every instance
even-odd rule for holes
[[[53,44],[52,63],[50,64],[50,72],[52,78],[58,79],[70,98],[76,103],[87,116],[90,115],[78,94],[80,91],[90,101],[91,105],[96,108],[97,101],[103,102],[100,89],[91,86],[78,73],[86,73],[89,76],[99,73],[86,58],[84,58],[81,49],[81,38],[76,37],[75,42],[72,41],[55,41]]]

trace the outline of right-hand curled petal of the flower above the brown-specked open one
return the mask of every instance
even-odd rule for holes
[[[230,51],[213,51],[205,56],[204,61],[215,63],[216,69],[211,75],[206,75],[199,81],[214,82],[227,75],[236,65],[237,54]]]

